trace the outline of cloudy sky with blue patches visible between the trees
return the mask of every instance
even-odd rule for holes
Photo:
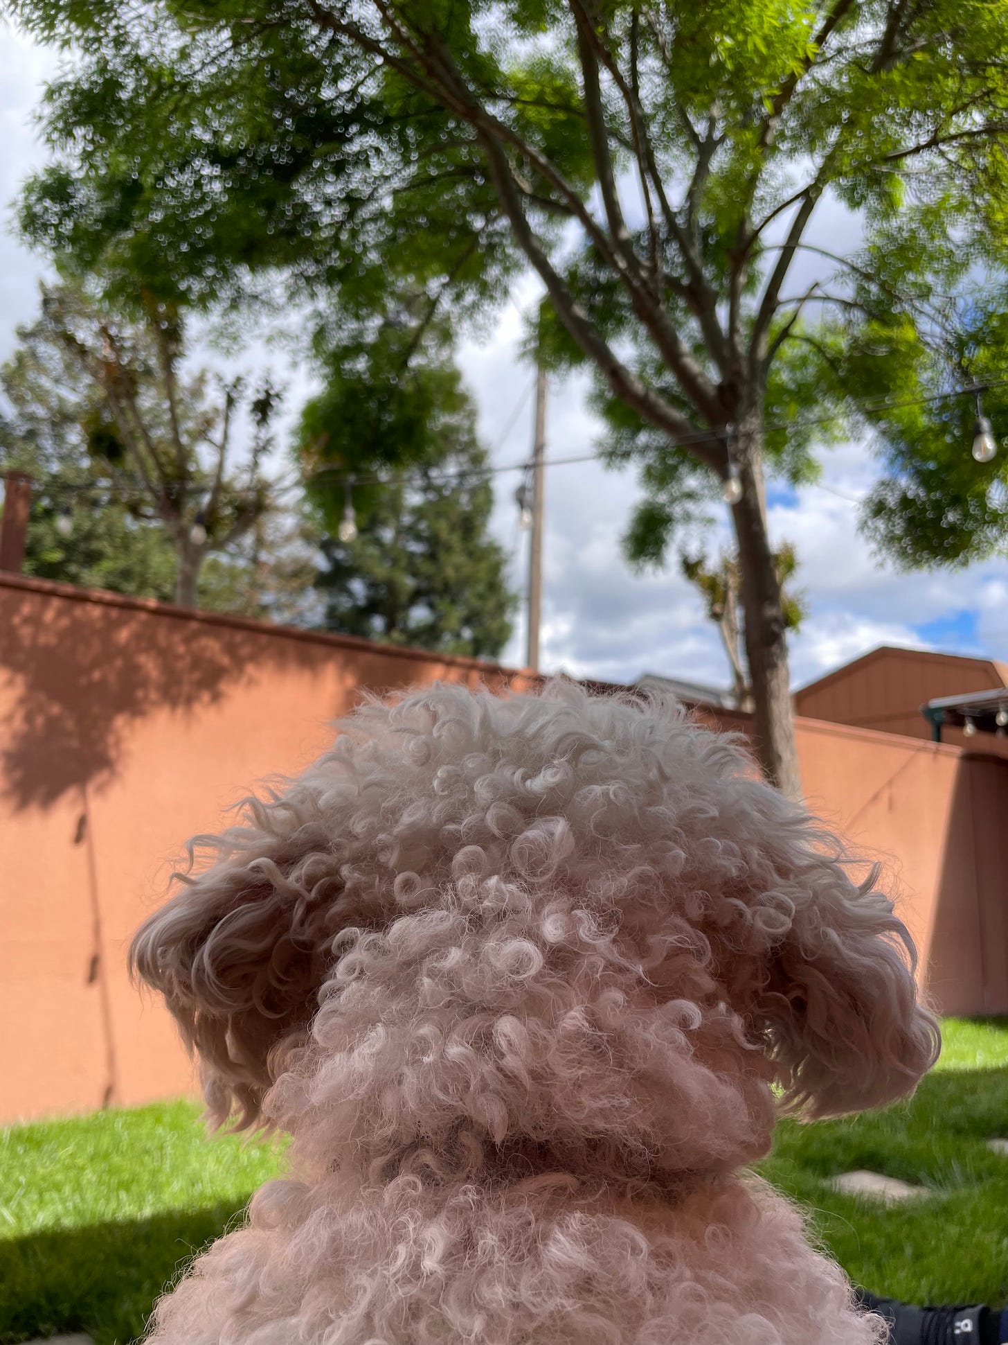
[[[44,161],[32,126],[42,81],[52,55],[32,47],[0,20],[0,359],[13,344],[15,327],[35,311],[42,266],[9,231],[8,203],[27,172]],[[821,234],[851,230],[853,222],[829,207],[817,221]],[[794,285],[801,285],[800,274]],[[461,351],[461,364],[480,409],[484,441],[499,464],[520,461],[532,433],[532,370],[519,360],[523,312],[535,300],[528,281],[516,289],[485,342]],[[265,356],[263,356],[265,358]],[[274,369],[278,356],[269,356]],[[288,410],[310,386],[304,369],[288,367]],[[570,379],[550,389],[547,455],[593,452],[599,428]],[[860,444],[831,448],[820,484],[771,492],[775,539],[797,547],[810,615],[794,638],[796,685],[878,644],[906,644],[1008,659],[1008,562],[991,561],[956,574],[899,574],[878,562],[856,529],[856,499],[871,486],[871,455]],[[517,473],[497,476],[493,527],[512,557],[513,581],[524,585],[527,534],[519,533],[513,490]],[[675,569],[638,576],[626,568],[620,537],[637,499],[632,472],[606,472],[587,463],[547,472],[543,593],[543,667],[607,681],[661,672],[712,683],[728,674],[716,631],[700,601]],[[726,511],[727,515],[727,511]],[[710,550],[727,539],[727,516]],[[521,623],[505,662],[521,662]]]

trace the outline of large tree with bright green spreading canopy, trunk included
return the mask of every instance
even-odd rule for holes
[[[12,8],[74,52],[22,207],[65,265],[204,301],[280,270],[344,309],[406,276],[456,323],[531,266],[667,530],[731,483],[758,745],[798,788],[765,477],[808,475],[805,413],[876,404],[894,348],[939,360],[950,297],[1004,270],[1001,0]],[[813,241],[824,199],[847,243]]]

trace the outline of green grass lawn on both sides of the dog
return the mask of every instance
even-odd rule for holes
[[[1008,1158],[984,1143],[996,1135],[1008,1137],[1008,1021],[952,1021],[913,1102],[784,1124],[762,1171],[874,1293],[1004,1303]],[[0,1345],[73,1330],[126,1345],[161,1287],[280,1162],[276,1149],[207,1139],[190,1103],[0,1130]],[[933,1194],[884,1208],[827,1185],[852,1167]]]

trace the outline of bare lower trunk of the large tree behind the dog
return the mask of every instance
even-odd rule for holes
[[[801,798],[794,742],[788,638],[781,582],[766,529],[763,424],[750,410],[737,425],[735,452],[742,499],[732,506],[742,573],[746,662],[753,689],[757,753],[769,779],[790,798]]]

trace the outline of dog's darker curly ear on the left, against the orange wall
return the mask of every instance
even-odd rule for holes
[[[176,874],[181,890],[137,931],[129,958],[196,1054],[212,1118],[238,1128],[259,1122],[263,1093],[314,1014],[339,892],[317,814],[246,807],[249,824],[190,843],[191,855],[210,849],[216,861]]]

